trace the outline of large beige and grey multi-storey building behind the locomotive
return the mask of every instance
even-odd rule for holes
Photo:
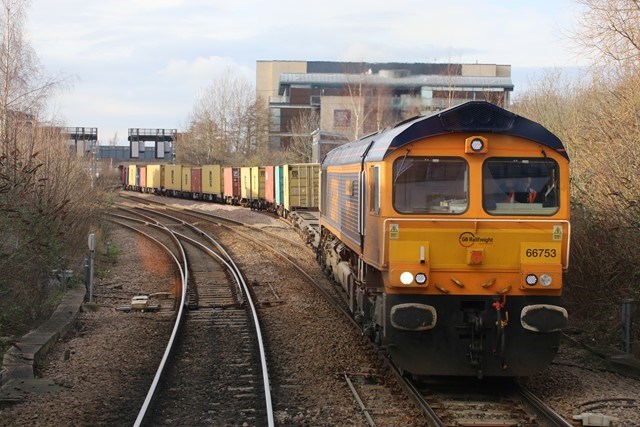
[[[468,100],[509,105],[511,66],[496,64],[257,61],[256,92],[269,108],[271,144],[287,146],[296,117],[353,140]],[[311,120],[311,121],[313,121]],[[308,123],[309,120],[303,121]]]

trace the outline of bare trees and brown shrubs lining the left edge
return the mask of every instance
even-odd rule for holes
[[[105,203],[104,180],[42,118],[69,78],[44,75],[25,15],[26,1],[0,3],[0,356],[55,308],[63,286],[53,271],[81,266]]]

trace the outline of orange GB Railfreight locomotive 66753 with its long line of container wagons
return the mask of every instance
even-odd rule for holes
[[[295,167],[316,176],[317,165]],[[320,169],[305,189],[319,195],[318,260],[400,369],[515,377],[551,362],[568,321],[571,230],[569,158],[555,135],[472,101],[335,148]],[[137,189],[155,191],[146,184]],[[253,200],[231,193],[210,197]],[[296,209],[279,202],[265,200]]]

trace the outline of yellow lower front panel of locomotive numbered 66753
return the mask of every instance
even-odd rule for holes
[[[561,290],[562,243],[554,240],[558,236],[553,232],[557,226],[447,225],[444,228],[430,221],[388,225],[389,291],[421,288],[420,293],[523,294]],[[403,273],[414,277],[423,273],[427,281],[407,284],[400,279]],[[529,275],[535,275],[536,283],[527,284]],[[550,282],[544,286],[543,275]]]

